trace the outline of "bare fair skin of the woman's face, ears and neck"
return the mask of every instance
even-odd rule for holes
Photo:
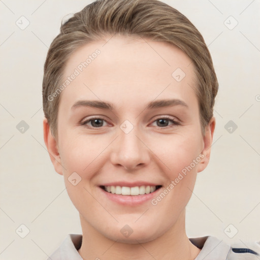
[[[110,36],[74,52],[64,79],[96,49],[101,54],[61,92],[55,139],[47,120],[43,122],[55,171],[64,176],[79,211],[83,233],[79,254],[102,260],[194,259],[200,249],[186,235],[185,206],[197,173],[208,165],[215,118],[203,136],[193,64],[168,43]],[[172,77],[177,68],[186,74],[180,82]],[[145,110],[148,102],[165,99],[179,99],[188,107]],[[115,110],[71,109],[79,100],[110,102]],[[80,124],[91,116],[104,119],[101,127],[93,121]],[[169,120],[162,126],[158,119],[164,116],[179,124]],[[134,127],[128,134],[120,128],[125,120]],[[112,181],[149,181],[162,185],[163,191],[201,153],[204,158],[157,205],[151,200],[138,206],[119,205],[99,187]],[[81,177],[76,186],[68,180],[73,172]],[[128,237],[120,232],[125,224],[133,230]]]

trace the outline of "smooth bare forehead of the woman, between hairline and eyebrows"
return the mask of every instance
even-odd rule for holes
[[[191,59],[170,43],[141,37],[113,36],[82,46],[67,61],[63,81],[72,74],[77,76],[61,93],[66,104],[80,98],[133,104],[195,95]]]

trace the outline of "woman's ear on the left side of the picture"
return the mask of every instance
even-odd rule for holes
[[[44,136],[45,145],[47,147],[55,171],[58,174],[63,175],[61,159],[58,151],[58,144],[51,133],[51,129],[48,120],[46,118],[44,118],[43,120],[43,136]]]

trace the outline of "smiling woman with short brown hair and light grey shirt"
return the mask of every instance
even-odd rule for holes
[[[200,32],[159,1],[96,1],[61,25],[43,79],[44,140],[79,211],[51,259],[256,259],[188,238],[218,82]]]

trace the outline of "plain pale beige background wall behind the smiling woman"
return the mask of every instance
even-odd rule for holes
[[[43,140],[42,77],[62,18],[90,2],[0,1],[0,259],[44,260],[67,234],[81,234]],[[186,208],[187,235],[259,241],[260,1],[164,2],[201,31],[219,80],[211,161]]]

